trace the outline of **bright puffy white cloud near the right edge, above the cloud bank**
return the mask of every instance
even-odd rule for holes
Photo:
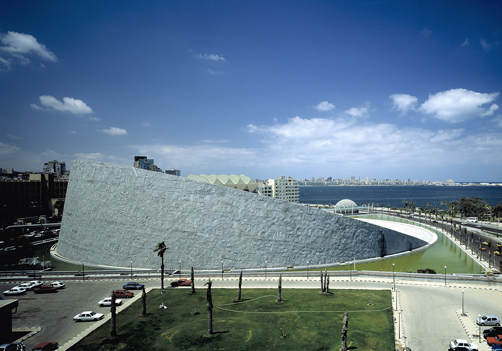
[[[469,118],[492,114],[498,105],[492,104],[489,109],[481,106],[492,102],[499,94],[499,92],[479,93],[467,89],[450,89],[429,95],[427,101],[420,106],[420,110],[433,114],[442,121],[463,122]]]

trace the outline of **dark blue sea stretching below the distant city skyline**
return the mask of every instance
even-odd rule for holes
[[[442,209],[441,201],[450,203],[462,197],[478,197],[490,206],[502,203],[502,186],[417,186],[417,185],[357,185],[357,186],[300,186],[300,203],[336,204],[343,199],[358,205],[383,204],[384,207],[403,207],[403,200],[413,201],[415,207]],[[446,207],[446,206],[445,206]]]

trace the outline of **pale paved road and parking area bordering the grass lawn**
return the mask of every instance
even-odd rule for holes
[[[318,278],[283,279],[283,289],[319,288]],[[202,289],[202,281],[198,289]],[[19,297],[18,313],[14,315],[13,327],[41,326],[41,332],[25,340],[27,349],[42,341],[58,341],[60,344],[70,340],[90,325],[88,322],[75,323],[72,318],[84,310],[109,313],[109,308],[99,308],[97,302],[109,296],[112,289],[119,289],[126,280],[120,281],[85,281],[66,282],[67,288],[57,294],[34,295],[29,293]],[[139,280],[147,286],[159,286],[159,280]],[[169,283],[169,279],[167,279]],[[0,291],[7,290],[14,284],[0,284]],[[391,289],[392,280],[388,281],[330,281],[330,289]],[[242,288],[276,288],[277,278],[246,278]],[[406,345],[412,351],[444,351],[448,342],[455,338],[466,338],[466,334],[456,309],[462,308],[462,290],[464,309],[471,316],[495,314],[502,316],[502,292],[500,290],[478,288],[477,286],[453,287],[442,284],[397,281],[400,294],[403,331]],[[237,288],[237,278],[213,278],[213,288]],[[497,288],[497,287],[495,287]],[[498,287],[500,289],[500,287]],[[169,291],[168,291],[169,293]],[[287,290],[283,290],[283,295]],[[11,297],[8,297],[11,298]],[[217,317],[215,318],[217,322]],[[397,327],[397,325],[396,325]]]

